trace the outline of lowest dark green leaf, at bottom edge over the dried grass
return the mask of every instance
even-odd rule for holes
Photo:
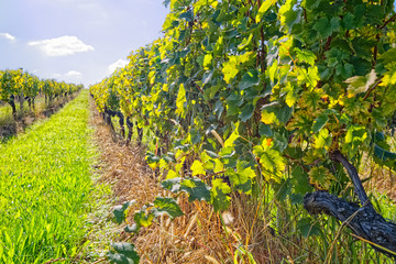
[[[107,254],[110,263],[116,264],[139,264],[140,256],[131,243],[114,243],[113,251]]]

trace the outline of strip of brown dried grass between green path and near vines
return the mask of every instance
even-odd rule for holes
[[[153,170],[146,166],[144,150],[136,144],[125,146],[122,142],[114,142],[92,102],[91,110],[95,139],[103,163],[99,172],[101,182],[112,185],[114,205],[135,200],[129,209],[128,222],[132,224],[135,210],[153,202],[157,196],[173,195],[161,188]],[[267,223],[260,220],[264,219],[260,215],[262,205],[249,197],[235,195],[232,199],[228,216],[223,216],[229,219],[228,226],[207,202],[188,202],[185,195],[177,200],[185,213],[183,217],[173,221],[162,217],[133,237],[120,231],[119,240],[135,244],[141,263],[234,263],[238,249],[246,248],[249,234],[248,250],[257,263],[278,263],[274,260],[283,255],[280,250],[276,250],[282,248],[280,240],[272,237]],[[240,256],[237,263],[249,263],[248,256]]]

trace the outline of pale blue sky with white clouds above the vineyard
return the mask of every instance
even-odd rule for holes
[[[86,87],[162,36],[163,0],[0,0],[0,69]]]

